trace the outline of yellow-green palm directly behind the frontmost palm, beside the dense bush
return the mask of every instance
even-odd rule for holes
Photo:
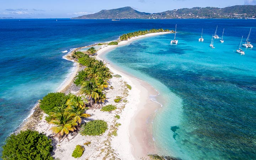
[[[66,102],[68,108],[67,112],[72,113],[74,115],[74,122],[80,124],[82,122],[81,117],[90,117],[90,114],[86,114],[85,110],[88,108],[85,107],[85,103],[88,101],[86,99],[82,100],[82,97],[71,95],[70,99]]]

